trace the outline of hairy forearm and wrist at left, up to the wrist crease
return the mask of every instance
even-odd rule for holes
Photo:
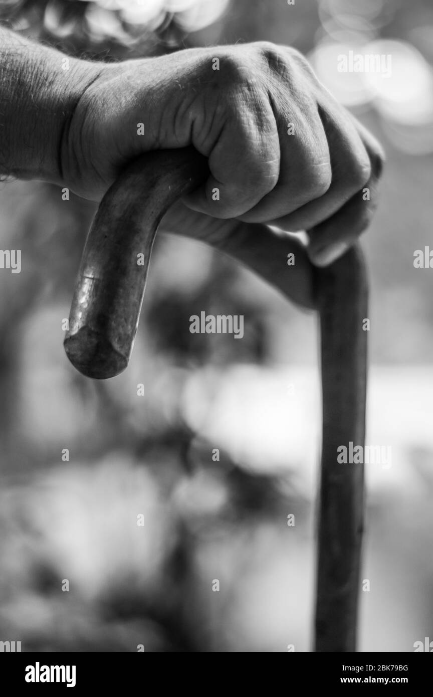
[[[0,174],[63,183],[63,132],[103,66],[3,29],[0,40]]]

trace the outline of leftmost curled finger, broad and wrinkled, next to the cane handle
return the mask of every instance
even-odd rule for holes
[[[194,146],[209,157],[210,177],[184,198],[192,210],[222,219],[237,217],[276,185],[280,146],[274,114],[265,96],[254,94],[252,102],[233,108],[210,151],[193,135]]]

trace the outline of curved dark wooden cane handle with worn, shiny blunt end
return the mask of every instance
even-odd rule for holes
[[[112,378],[127,367],[158,224],[206,173],[207,160],[194,148],[148,153],[105,194],[81,257],[64,341],[80,373]]]

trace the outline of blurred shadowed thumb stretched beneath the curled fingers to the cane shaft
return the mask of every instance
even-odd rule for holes
[[[168,211],[160,229],[214,247],[253,270],[286,298],[302,307],[315,307],[313,266],[297,238],[263,224],[217,220],[192,212],[182,203]]]

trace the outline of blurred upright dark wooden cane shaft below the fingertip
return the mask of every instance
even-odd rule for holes
[[[363,535],[362,464],[338,447],[365,439],[368,284],[360,247],[316,271],[322,363],[322,464],[315,651],[356,651]],[[362,451],[364,452],[364,450]]]

